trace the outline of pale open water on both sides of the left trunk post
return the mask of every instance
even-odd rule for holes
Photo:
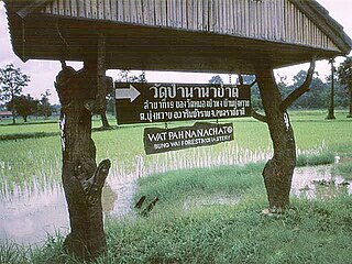
[[[134,182],[123,183],[110,178],[103,188],[105,216],[132,216]],[[19,244],[41,245],[47,234],[67,234],[69,220],[65,195],[61,184],[45,191],[21,190],[0,200],[0,243],[6,240]]]

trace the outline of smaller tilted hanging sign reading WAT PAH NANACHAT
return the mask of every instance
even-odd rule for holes
[[[144,129],[146,154],[215,145],[227,141],[233,141],[232,123],[196,123],[193,127],[176,129]]]

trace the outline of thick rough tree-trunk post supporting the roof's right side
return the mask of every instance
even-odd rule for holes
[[[274,155],[264,169],[263,177],[271,209],[289,205],[292,178],[296,165],[296,144],[288,113],[280,110],[282,96],[272,69],[257,72],[257,84],[263,101]]]

